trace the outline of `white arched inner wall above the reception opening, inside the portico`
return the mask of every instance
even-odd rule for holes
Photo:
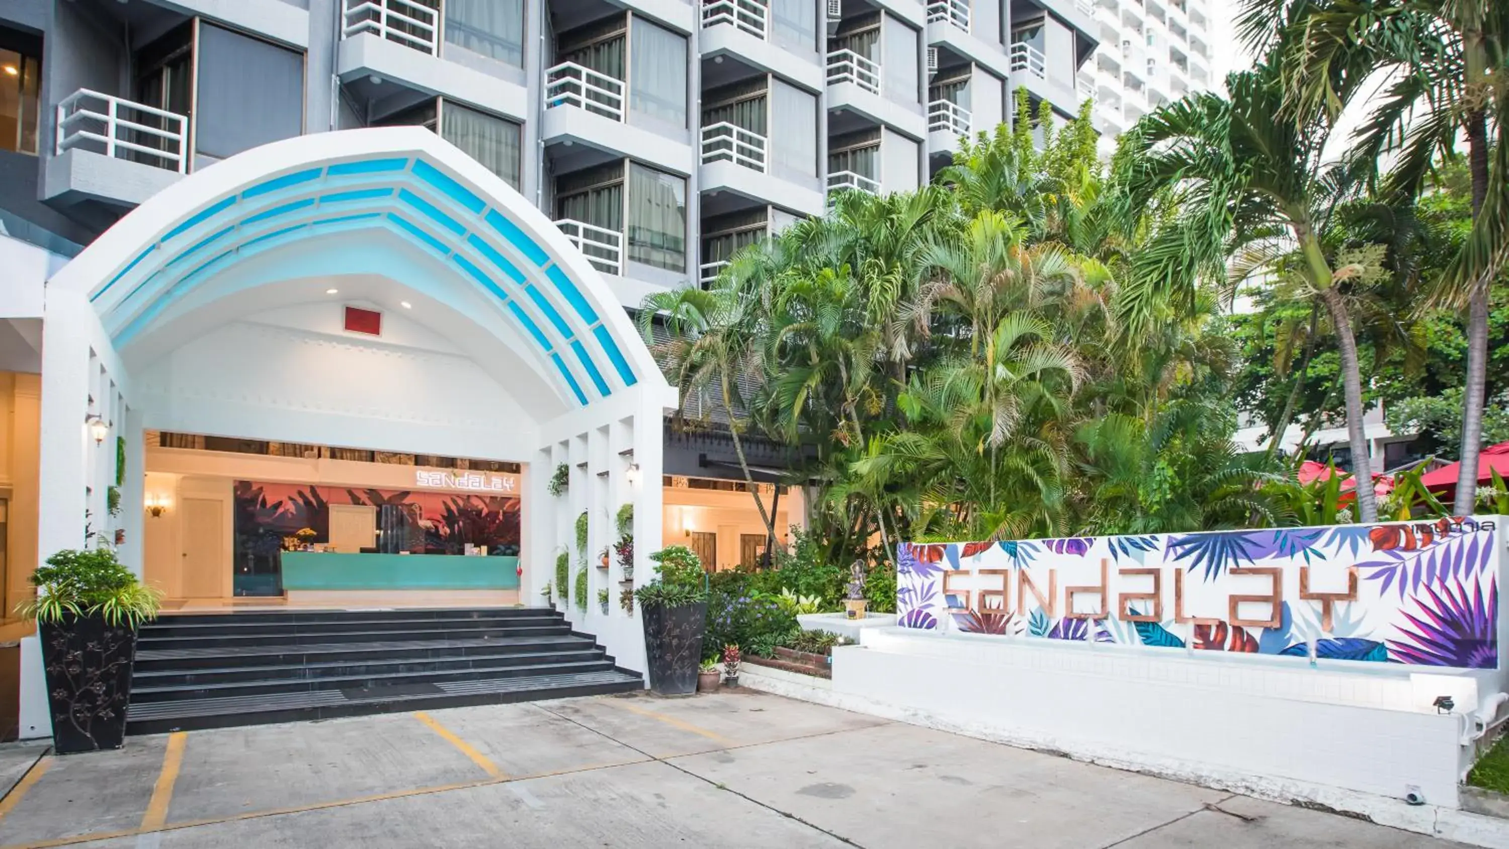
[[[340,329],[341,305],[216,327],[136,371],[146,427],[343,448],[524,460],[533,415],[442,336],[383,314]]]

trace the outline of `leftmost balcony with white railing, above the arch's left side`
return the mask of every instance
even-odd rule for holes
[[[187,128],[183,115],[78,89],[57,104],[42,196],[142,204],[189,170]]]

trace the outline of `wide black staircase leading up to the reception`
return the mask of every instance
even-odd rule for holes
[[[142,626],[125,733],[643,686],[551,609],[164,614]]]

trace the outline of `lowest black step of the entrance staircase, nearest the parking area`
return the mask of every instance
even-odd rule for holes
[[[644,682],[638,674],[611,670],[483,679],[474,682],[374,686],[350,691],[318,689],[254,697],[133,703],[127,712],[125,733],[161,734],[196,728],[297,722],[398,710],[436,710],[472,704],[604,695],[632,692],[643,688]]]

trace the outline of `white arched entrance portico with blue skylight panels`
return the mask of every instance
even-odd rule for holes
[[[346,306],[380,332],[349,332]],[[119,528],[143,570],[143,430],[519,463],[525,603],[557,552],[613,541],[620,504],[637,538],[661,535],[675,391],[554,225],[423,128],[302,136],[161,192],[48,280],[42,348],[42,556]],[[617,565],[589,573],[617,596]],[[570,615],[638,662],[616,603]]]

